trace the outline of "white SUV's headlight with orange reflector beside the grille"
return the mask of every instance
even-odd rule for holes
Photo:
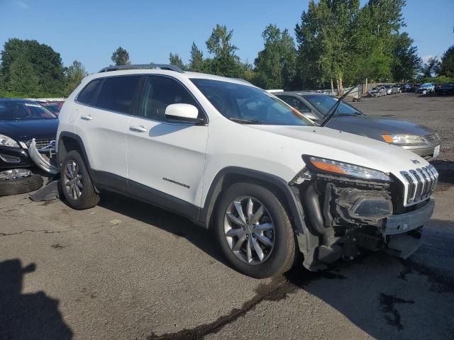
[[[378,181],[391,181],[387,174],[382,171],[365,168],[343,162],[333,161],[319,157],[306,157],[306,164],[309,168],[316,171],[322,171],[330,174],[338,174],[343,176],[355,177],[357,179],[372,179]]]

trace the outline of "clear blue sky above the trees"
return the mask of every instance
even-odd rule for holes
[[[365,0],[361,1],[365,4]],[[423,60],[441,57],[454,44],[454,0],[407,0],[404,31]],[[111,64],[118,46],[133,64],[168,63],[170,52],[189,60],[192,42],[205,42],[216,23],[233,30],[243,61],[253,63],[269,23],[294,27],[308,0],[0,0],[0,50],[9,38],[34,39],[59,52],[65,66],[79,60],[87,71]]]

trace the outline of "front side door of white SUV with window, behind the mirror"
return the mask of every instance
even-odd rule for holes
[[[146,77],[126,132],[128,186],[135,196],[148,195],[151,189],[150,195],[169,195],[199,206],[208,126],[168,120],[165,109],[174,103],[192,104],[200,118],[205,115],[176,79]]]

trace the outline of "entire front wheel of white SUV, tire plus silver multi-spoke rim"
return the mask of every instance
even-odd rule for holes
[[[272,191],[252,183],[235,183],[216,208],[216,238],[229,263],[253,278],[288,271],[295,259],[292,224]]]

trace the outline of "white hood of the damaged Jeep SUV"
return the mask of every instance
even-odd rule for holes
[[[400,176],[399,172],[402,170],[428,165],[425,159],[401,147],[330,128],[276,125],[248,126],[302,141],[298,144],[289,143],[293,148],[301,149],[301,155],[309,154],[365,166],[384,173],[392,172],[396,176]],[[417,163],[418,166],[415,166],[415,161],[419,162]]]

